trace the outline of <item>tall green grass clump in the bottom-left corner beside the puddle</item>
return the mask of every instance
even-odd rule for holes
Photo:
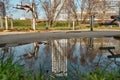
[[[23,68],[17,64],[13,63],[13,55],[5,57],[3,53],[0,60],[0,80],[19,80],[23,74]]]

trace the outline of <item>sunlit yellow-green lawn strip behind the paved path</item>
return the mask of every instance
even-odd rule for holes
[[[13,29],[10,29],[11,24],[10,20],[8,20],[8,26],[11,31],[29,31],[32,30],[32,20],[13,20]],[[5,21],[3,20],[3,26],[5,29]],[[49,28],[49,30],[72,30],[72,23],[71,26],[68,27],[68,23],[66,21],[56,21],[53,24],[53,27]],[[118,26],[113,26],[110,28],[109,26],[100,26],[98,23],[95,23],[94,30],[120,30]],[[36,30],[46,30],[46,22],[36,23]],[[75,24],[75,30],[90,30],[89,24]],[[0,31],[3,31],[0,29]]]

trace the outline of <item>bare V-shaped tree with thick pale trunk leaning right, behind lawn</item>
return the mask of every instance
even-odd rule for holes
[[[39,0],[45,12],[48,28],[53,26],[54,21],[58,18],[65,1],[63,0]]]

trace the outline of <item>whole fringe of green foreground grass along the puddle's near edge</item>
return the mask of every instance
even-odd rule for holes
[[[6,56],[6,53],[1,53],[0,80],[61,80],[61,78],[55,76],[55,74],[45,76],[42,69],[40,69],[37,74],[33,71],[27,73],[24,65],[20,65],[19,60],[13,62],[13,59],[14,54]],[[77,72],[72,73],[72,76],[77,80],[120,80],[120,69],[118,71],[108,71],[106,67],[97,68],[88,75],[77,70]],[[63,76],[62,79],[73,80],[71,76]]]

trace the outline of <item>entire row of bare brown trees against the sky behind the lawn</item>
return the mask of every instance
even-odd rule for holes
[[[10,0],[0,0],[4,2],[7,13],[12,12]],[[20,0],[23,4],[34,5],[35,19],[39,16],[45,16],[48,24],[48,28],[52,27],[54,22],[60,20],[61,17],[67,20],[68,26],[71,26],[71,22],[78,22],[81,20],[82,23],[86,23],[90,15],[96,15],[102,21],[106,15],[107,0]],[[32,3],[34,2],[34,3]],[[43,13],[44,12],[44,13]],[[78,17],[78,13],[79,17]],[[42,14],[38,14],[42,13]],[[31,15],[31,14],[30,14]],[[32,14],[33,15],[33,14]],[[29,16],[30,17],[30,16]]]

